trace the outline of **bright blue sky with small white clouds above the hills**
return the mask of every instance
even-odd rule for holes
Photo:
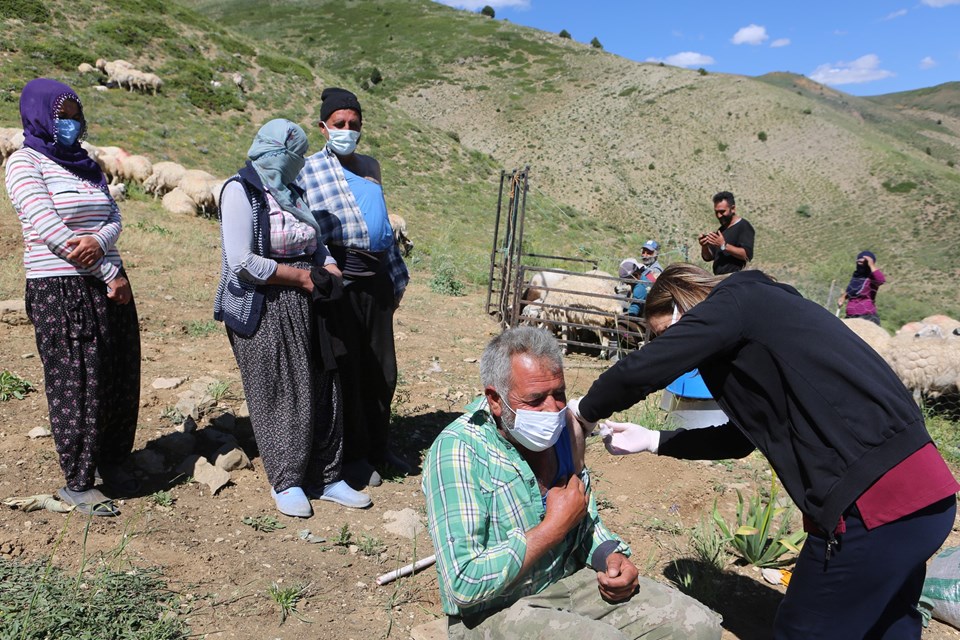
[[[791,71],[854,95],[960,80],[960,0],[437,0],[631,60],[756,76]]]

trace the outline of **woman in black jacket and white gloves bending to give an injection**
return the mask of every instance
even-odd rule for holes
[[[584,428],[698,368],[727,424],[608,423],[607,449],[697,460],[759,449],[810,533],[774,637],[919,638],[925,562],[951,530],[960,485],[890,367],[833,314],[759,271],[671,265],[645,315],[656,340],[571,401]]]

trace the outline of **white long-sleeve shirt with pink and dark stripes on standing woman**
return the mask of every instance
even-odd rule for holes
[[[7,193],[23,226],[27,278],[92,275],[110,282],[123,266],[115,246],[120,210],[109,194],[33,149],[7,160]],[[92,235],[104,256],[90,268],[67,260],[67,241]]]

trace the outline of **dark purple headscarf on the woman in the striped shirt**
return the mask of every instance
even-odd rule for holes
[[[57,113],[65,100],[73,100],[83,113],[83,105],[76,92],[56,80],[37,78],[31,80],[20,93],[20,121],[23,123],[23,146],[42,153],[78,178],[88,180],[106,190],[107,179],[80,140],[87,132],[83,130],[77,141],[69,147],[57,144]]]

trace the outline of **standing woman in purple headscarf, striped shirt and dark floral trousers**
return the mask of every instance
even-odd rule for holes
[[[140,332],[117,251],[120,210],[97,163],[80,146],[80,98],[38,78],[20,95],[23,148],[6,186],[23,225],[27,314],[43,362],[62,500],[81,513],[117,515],[94,488],[135,489],[121,468],[133,449],[140,404]]]

